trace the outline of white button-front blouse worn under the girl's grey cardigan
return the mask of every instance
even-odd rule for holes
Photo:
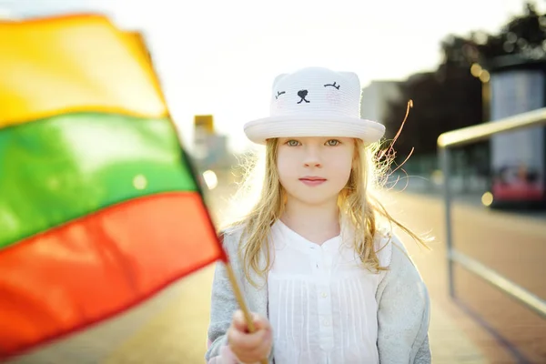
[[[342,236],[319,246],[280,220],[272,227],[268,317],[276,364],[379,363],[379,275],[359,265]]]

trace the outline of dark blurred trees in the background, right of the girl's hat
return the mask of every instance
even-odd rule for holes
[[[389,103],[385,118],[388,138],[397,134],[410,99],[414,105],[395,144],[398,162],[408,157],[412,148],[414,155],[434,153],[441,133],[487,121],[483,111],[489,106],[482,105],[482,82],[487,86],[490,76],[487,68],[503,59],[544,62],[546,15],[540,15],[528,2],[524,14],[512,18],[499,34],[448,35],[440,49],[443,60],[438,69],[410,76],[400,83],[401,97]],[[467,150],[479,147],[483,146]]]

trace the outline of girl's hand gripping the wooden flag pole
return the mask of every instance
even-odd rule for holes
[[[258,363],[262,359],[267,359],[273,344],[268,319],[257,314],[252,314],[252,318],[256,330],[250,333],[243,312],[237,310],[227,330],[229,348],[243,363]]]

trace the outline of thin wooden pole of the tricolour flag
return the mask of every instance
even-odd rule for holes
[[[166,99],[165,95],[163,94],[163,88],[161,87],[161,83],[159,81],[159,77],[157,75],[152,56],[151,56],[150,52],[148,51],[146,41],[144,40],[143,36],[141,34],[139,34],[139,33],[136,35],[136,37],[138,38],[139,42],[141,43],[141,45],[143,47],[143,50],[147,51],[147,54],[148,54],[147,60],[149,62],[149,66],[150,66],[151,71],[152,71],[153,79],[156,82],[157,93],[158,93],[159,97],[161,98],[161,101],[163,102],[163,105],[165,106],[165,109],[167,111],[167,118],[169,119],[169,121],[171,122],[171,124],[175,128],[175,130],[177,131],[177,126],[175,125],[175,122],[174,122],[174,120],[173,120],[173,118],[172,118],[172,116],[170,114],[169,109],[168,109],[167,99]],[[205,195],[203,194],[203,189],[201,188],[201,185],[200,185],[199,181],[197,180],[197,168],[194,167],[194,165],[193,165],[192,161],[190,160],[190,158],[187,157],[187,153],[184,150],[182,140],[180,139],[180,136],[178,135],[178,132],[177,132],[177,139],[178,139],[178,145],[180,146],[180,154],[182,155],[182,162],[190,170],[191,177],[192,177],[192,179],[194,181],[194,184],[195,184],[195,186],[197,188],[197,193],[201,197],[200,198],[201,203],[203,204],[203,207],[205,208],[205,211],[206,211],[205,215],[207,216],[207,225],[212,231],[215,231],[215,233],[216,233],[216,231],[217,231],[216,226],[215,226],[214,222],[212,221],[212,217],[210,216],[207,205],[205,204]],[[229,263],[229,257],[227,257],[227,252],[226,252],[226,249],[224,248],[223,241],[222,241],[223,239],[220,239],[217,236],[217,234],[215,234],[215,235],[217,237],[218,246],[220,246],[220,248],[222,249],[222,262],[226,266],[227,278],[229,278],[229,282],[231,283],[231,287],[233,288],[233,293],[235,294],[235,298],[237,299],[238,306],[241,309],[241,311],[243,312],[245,320],[247,321],[248,331],[249,332],[254,332],[254,331],[256,331],[256,328],[254,327],[254,321],[252,319],[252,316],[250,315],[250,310],[248,309],[247,304],[245,303],[245,298],[243,297],[243,294],[241,293],[241,289],[239,288],[238,281],[237,281],[237,278],[236,278],[235,273],[233,271],[233,268],[231,267],[231,264]],[[268,364],[268,359],[267,358],[261,359],[260,364]]]

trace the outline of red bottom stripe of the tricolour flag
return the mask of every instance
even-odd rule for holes
[[[197,192],[142,197],[0,250],[0,358],[226,259]]]

